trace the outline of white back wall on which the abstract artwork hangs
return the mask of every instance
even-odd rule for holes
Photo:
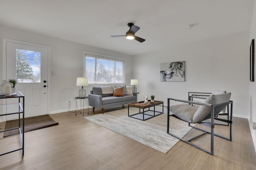
[[[188,92],[231,92],[233,113],[249,117],[249,35],[240,33],[133,57],[133,78],[138,79],[139,99],[187,100]],[[185,82],[160,82],[160,63],[185,61]]]

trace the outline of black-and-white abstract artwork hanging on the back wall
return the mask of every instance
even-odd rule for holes
[[[160,64],[161,82],[184,82],[185,61]]]

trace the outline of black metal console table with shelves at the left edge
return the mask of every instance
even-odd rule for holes
[[[15,94],[15,95],[14,95]],[[5,131],[10,131],[10,130],[14,130],[14,129],[18,129],[19,130],[19,135],[20,135],[20,143],[21,143],[21,148],[18,149],[14,149],[11,150],[9,152],[5,152],[5,153],[0,153],[0,156],[4,155],[4,154],[8,154],[11,152],[15,152],[18,150],[22,150],[22,156],[24,155],[24,105],[25,105],[25,97],[21,92],[17,92],[17,93],[13,93],[10,96],[0,96],[1,100],[6,99],[6,103],[7,100],[10,98],[18,98],[18,103],[12,103],[12,104],[1,104],[0,108],[2,108],[2,113],[0,112],[0,116],[6,116],[6,115],[14,115],[17,114],[18,115],[18,119],[19,119],[19,127],[13,128],[13,129],[5,129],[4,131],[0,131],[1,132],[5,132]],[[22,104],[20,103],[22,101]],[[4,102],[4,101],[2,101]],[[20,114],[22,114],[22,129],[20,127]],[[5,140],[4,138],[0,139],[0,145],[1,145],[1,141]],[[1,147],[4,147],[1,145]]]

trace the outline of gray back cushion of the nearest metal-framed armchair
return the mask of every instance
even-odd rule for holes
[[[223,103],[229,102],[230,97],[231,97],[231,93],[212,94],[204,101],[204,103],[205,104],[223,104]],[[219,108],[219,109],[221,111],[223,108]],[[216,112],[217,112],[217,110],[216,110]],[[192,123],[198,123],[198,122],[204,121],[206,119],[209,119],[210,113],[211,113],[211,107],[200,106],[199,109],[194,114]]]

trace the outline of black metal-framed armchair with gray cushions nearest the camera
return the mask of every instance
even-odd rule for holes
[[[191,93],[191,92],[190,92]],[[233,101],[230,101],[231,93],[224,93],[224,94],[209,94],[209,93],[199,93],[198,95],[194,95],[193,98],[202,98],[205,99],[204,102],[193,102],[190,100],[178,100],[173,98],[168,98],[168,106],[167,106],[167,134],[180,139],[181,141],[196,147],[197,149],[200,149],[208,154],[213,155],[214,151],[214,135],[217,137],[221,137],[223,139],[226,139],[228,141],[232,141],[232,116],[233,116]],[[191,96],[189,96],[189,99],[191,99]],[[170,100],[182,102],[182,104],[176,104],[170,106]],[[198,109],[193,107],[192,105],[200,105]],[[227,119],[220,119],[218,118],[218,114],[225,108],[228,109],[228,117]],[[230,107],[230,109],[229,109]],[[230,113],[229,113],[230,111]],[[171,115],[170,112],[173,114]],[[229,116],[230,115],[230,116]],[[188,126],[200,130],[203,133],[193,137],[192,139],[185,140],[182,139],[172,133],[169,132],[169,125],[170,125],[170,116],[174,116],[178,119],[181,119],[183,121],[188,122]],[[203,121],[210,119],[210,123],[202,123]],[[230,136],[229,138],[223,137],[218,134],[214,134],[214,119],[217,119],[218,121],[226,122],[228,123],[228,126],[230,127]],[[200,129],[198,127],[191,126],[190,123],[201,123],[202,125],[208,125],[210,126],[210,131]],[[211,143],[210,143],[210,150],[206,150],[198,145],[195,145],[194,143],[191,143],[190,141],[201,137],[205,134],[211,135]]]

